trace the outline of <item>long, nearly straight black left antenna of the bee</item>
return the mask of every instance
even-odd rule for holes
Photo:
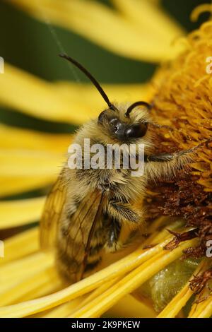
[[[93,83],[93,85],[95,85],[95,87],[98,89],[100,95],[102,95],[102,98],[105,100],[108,107],[110,109],[112,109],[113,111],[116,109],[114,107],[114,105],[112,105],[112,103],[110,102],[105,91],[102,89],[100,83],[98,83],[98,81],[96,81],[96,79],[91,75],[91,73],[89,73],[89,71],[87,71],[87,69],[85,67],[83,67],[81,64],[78,63],[78,61],[72,59],[71,57],[69,57],[66,54],[59,54],[59,57],[68,60],[69,62],[71,62],[71,64],[74,64],[78,69],[80,69],[90,79],[90,81]]]

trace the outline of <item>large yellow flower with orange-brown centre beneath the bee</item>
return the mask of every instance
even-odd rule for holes
[[[165,64],[156,73],[153,85],[105,85],[104,88],[111,99],[123,101],[128,97],[128,101],[153,100],[155,120],[178,129],[172,132],[158,131],[161,138],[158,143],[165,151],[176,147],[191,148],[211,138],[211,76],[205,71],[205,59],[212,55],[211,22],[205,23],[180,42],[171,43],[184,32],[154,0],[113,0],[116,11],[96,1],[10,2],[40,20],[74,30],[124,57],[152,62],[175,58],[169,62],[169,66]],[[200,10],[205,9],[208,7]],[[197,14],[195,12],[194,16]],[[78,125],[88,117],[98,115],[102,107],[102,100],[90,85],[48,83],[9,64],[6,64],[0,81],[1,105],[41,119]],[[41,134],[3,124],[0,138],[1,197],[52,184],[71,141],[71,135]],[[199,190],[196,191],[199,196],[195,200],[198,204],[204,200],[206,209],[211,208],[208,201],[211,159],[210,146],[204,146],[198,154],[198,160],[192,165],[192,172],[186,175],[187,181],[195,177],[194,184]],[[185,188],[184,173],[181,176],[180,185]],[[179,194],[179,184],[175,185],[174,194]],[[163,192],[167,195],[167,184],[162,186],[165,186]],[[161,187],[157,187],[157,190],[161,190]],[[174,211],[173,197],[166,198],[165,213],[171,215],[169,209]],[[16,201],[2,200],[0,228],[34,223],[40,218],[44,201],[43,196]],[[150,208],[154,207],[155,211],[160,208],[157,192],[150,194],[147,204]],[[181,215],[185,213],[180,204],[175,210],[176,213],[180,211]],[[207,216],[208,210],[201,211]],[[187,211],[187,215],[191,217],[192,214]],[[192,220],[189,221],[187,231],[196,227]],[[201,225],[206,226],[206,223]],[[107,316],[155,317],[158,313],[150,298],[143,294],[141,285],[153,283],[154,276],[164,268],[172,269],[173,262],[182,257],[183,250],[191,252],[204,244],[207,234],[203,234],[204,227],[201,228],[201,225],[199,237],[187,239],[172,251],[165,251],[165,245],[172,240],[166,228],[182,232],[182,220],[178,218],[172,223],[169,217],[156,218],[148,228],[151,236],[139,247],[135,244],[133,249],[117,253],[113,259],[108,255],[100,271],[69,286],[64,285],[57,275],[53,254],[40,250],[38,227],[20,232],[4,242],[5,257],[0,259],[0,316],[98,317],[106,313]],[[198,261],[194,275],[203,275],[210,264],[209,259]],[[175,296],[168,295],[170,299],[158,317],[184,316],[182,308],[192,295],[189,280],[184,280],[183,287],[177,289]],[[201,295],[206,296],[207,290],[204,289]],[[211,315],[212,300],[207,296],[205,301],[194,303],[189,312],[189,317]]]

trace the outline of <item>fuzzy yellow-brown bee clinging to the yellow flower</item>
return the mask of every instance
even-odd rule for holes
[[[76,60],[60,57],[80,69],[95,85],[107,104],[98,119],[81,126],[74,143],[121,146],[143,144],[144,173],[131,177],[124,169],[70,169],[67,163],[47,196],[41,218],[42,248],[54,247],[59,272],[69,281],[83,278],[100,263],[104,252],[114,252],[124,245],[124,225],[132,232],[145,225],[143,198],[148,182],[175,177],[192,160],[194,149],[154,154],[151,105],[138,101],[131,105],[110,102],[98,81]],[[83,155],[83,158],[85,156]]]

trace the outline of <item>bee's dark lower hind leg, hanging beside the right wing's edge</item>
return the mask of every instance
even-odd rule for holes
[[[119,220],[112,218],[109,220],[110,228],[109,232],[107,233],[107,240],[105,243],[105,249],[108,252],[114,252],[119,250],[122,247],[121,242],[119,242],[119,235],[121,232],[121,225]]]

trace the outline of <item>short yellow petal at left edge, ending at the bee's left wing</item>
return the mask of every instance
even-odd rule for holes
[[[33,223],[40,219],[45,197],[0,202],[0,229]]]

